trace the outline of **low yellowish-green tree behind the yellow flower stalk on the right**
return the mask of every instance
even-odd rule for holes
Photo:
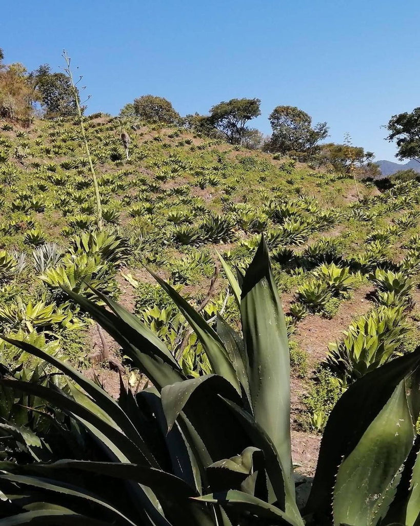
[[[364,151],[359,146],[350,144],[323,144],[320,149],[319,158],[322,163],[329,163],[337,171],[349,173],[351,167],[370,167],[374,158],[372,151]]]

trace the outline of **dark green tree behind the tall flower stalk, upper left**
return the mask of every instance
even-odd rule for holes
[[[75,116],[76,101],[70,80],[64,73],[51,73],[48,64],[39,66],[33,75],[39,102],[46,110],[46,116]]]

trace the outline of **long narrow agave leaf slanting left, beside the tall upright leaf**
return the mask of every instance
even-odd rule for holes
[[[162,278],[149,270],[150,274],[158,281],[159,285],[172,298],[178,309],[183,313],[185,319],[190,323],[192,329],[201,341],[208,360],[216,375],[223,376],[234,388],[240,392],[239,380],[235,369],[229,360],[228,353],[223,346],[222,340],[217,333],[208,325],[206,320],[182,297],[176,290],[167,284]]]

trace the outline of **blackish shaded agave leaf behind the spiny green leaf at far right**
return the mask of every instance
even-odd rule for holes
[[[420,348],[417,348],[414,352],[367,373],[344,392],[332,410],[324,430],[307,513],[316,514],[319,520],[330,517],[331,492],[338,466],[357,447],[400,382],[411,376],[419,364]],[[418,397],[418,388],[412,389],[412,396]],[[409,407],[418,406],[410,400],[408,403]]]

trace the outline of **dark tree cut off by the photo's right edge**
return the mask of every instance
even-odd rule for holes
[[[400,160],[415,159],[420,163],[420,107],[411,113],[393,115],[386,125],[390,134],[388,141],[396,140],[398,151],[396,157]]]

